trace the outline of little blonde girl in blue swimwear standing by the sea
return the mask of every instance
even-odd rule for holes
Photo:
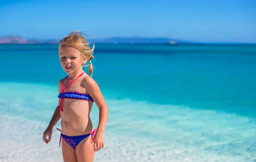
[[[79,31],[73,31],[59,43],[61,66],[67,77],[58,82],[58,106],[44,131],[43,140],[47,144],[51,141],[52,129],[61,118],[62,130],[57,129],[61,131],[59,145],[62,144],[64,162],[93,162],[94,152],[104,147],[108,107],[91,77],[93,50],[94,46],[90,48]],[[90,76],[82,69],[88,60]],[[89,116],[93,102],[99,108],[99,125],[94,130]],[[61,142],[61,139],[64,140]]]

